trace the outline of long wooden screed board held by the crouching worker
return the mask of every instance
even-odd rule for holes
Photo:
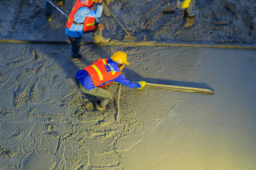
[[[214,94],[214,91],[208,90],[206,88],[195,88],[195,87],[183,87],[183,86],[172,86],[172,85],[164,85],[164,84],[153,84],[153,83],[146,83],[147,87],[156,87],[156,88],[168,88],[171,90],[180,90],[186,92],[203,92],[208,94]]]

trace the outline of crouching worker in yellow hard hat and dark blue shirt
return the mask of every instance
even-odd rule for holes
[[[102,111],[111,99],[111,93],[104,89],[108,84],[114,82],[123,84],[130,88],[142,89],[146,82],[130,82],[121,73],[127,62],[127,56],[124,52],[115,52],[111,59],[97,59],[92,65],[85,67],[76,73],[77,87],[85,94],[101,97],[97,101],[95,109]]]

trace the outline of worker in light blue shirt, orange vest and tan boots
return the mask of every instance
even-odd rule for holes
[[[97,2],[97,10],[93,10],[94,3]],[[66,24],[66,34],[71,41],[71,58],[78,60],[82,35],[84,33],[94,32],[93,42],[109,42],[110,38],[102,37],[104,25],[98,22],[98,17],[102,14],[102,0],[77,0],[69,15]]]

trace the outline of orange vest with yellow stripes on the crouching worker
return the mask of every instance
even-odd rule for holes
[[[101,83],[113,80],[121,74],[121,71],[106,71],[105,65],[108,65],[108,59],[101,58],[92,65],[84,68],[89,73],[90,78],[92,78],[94,86],[99,86]]]

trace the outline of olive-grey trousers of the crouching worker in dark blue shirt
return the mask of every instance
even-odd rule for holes
[[[101,97],[101,101],[99,106],[101,108],[105,108],[106,105],[109,103],[109,100],[111,99],[111,93],[108,90],[105,90],[101,87],[94,87],[91,90],[86,90],[84,86],[79,82],[79,80],[76,78],[77,87],[84,92],[85,94]]]

